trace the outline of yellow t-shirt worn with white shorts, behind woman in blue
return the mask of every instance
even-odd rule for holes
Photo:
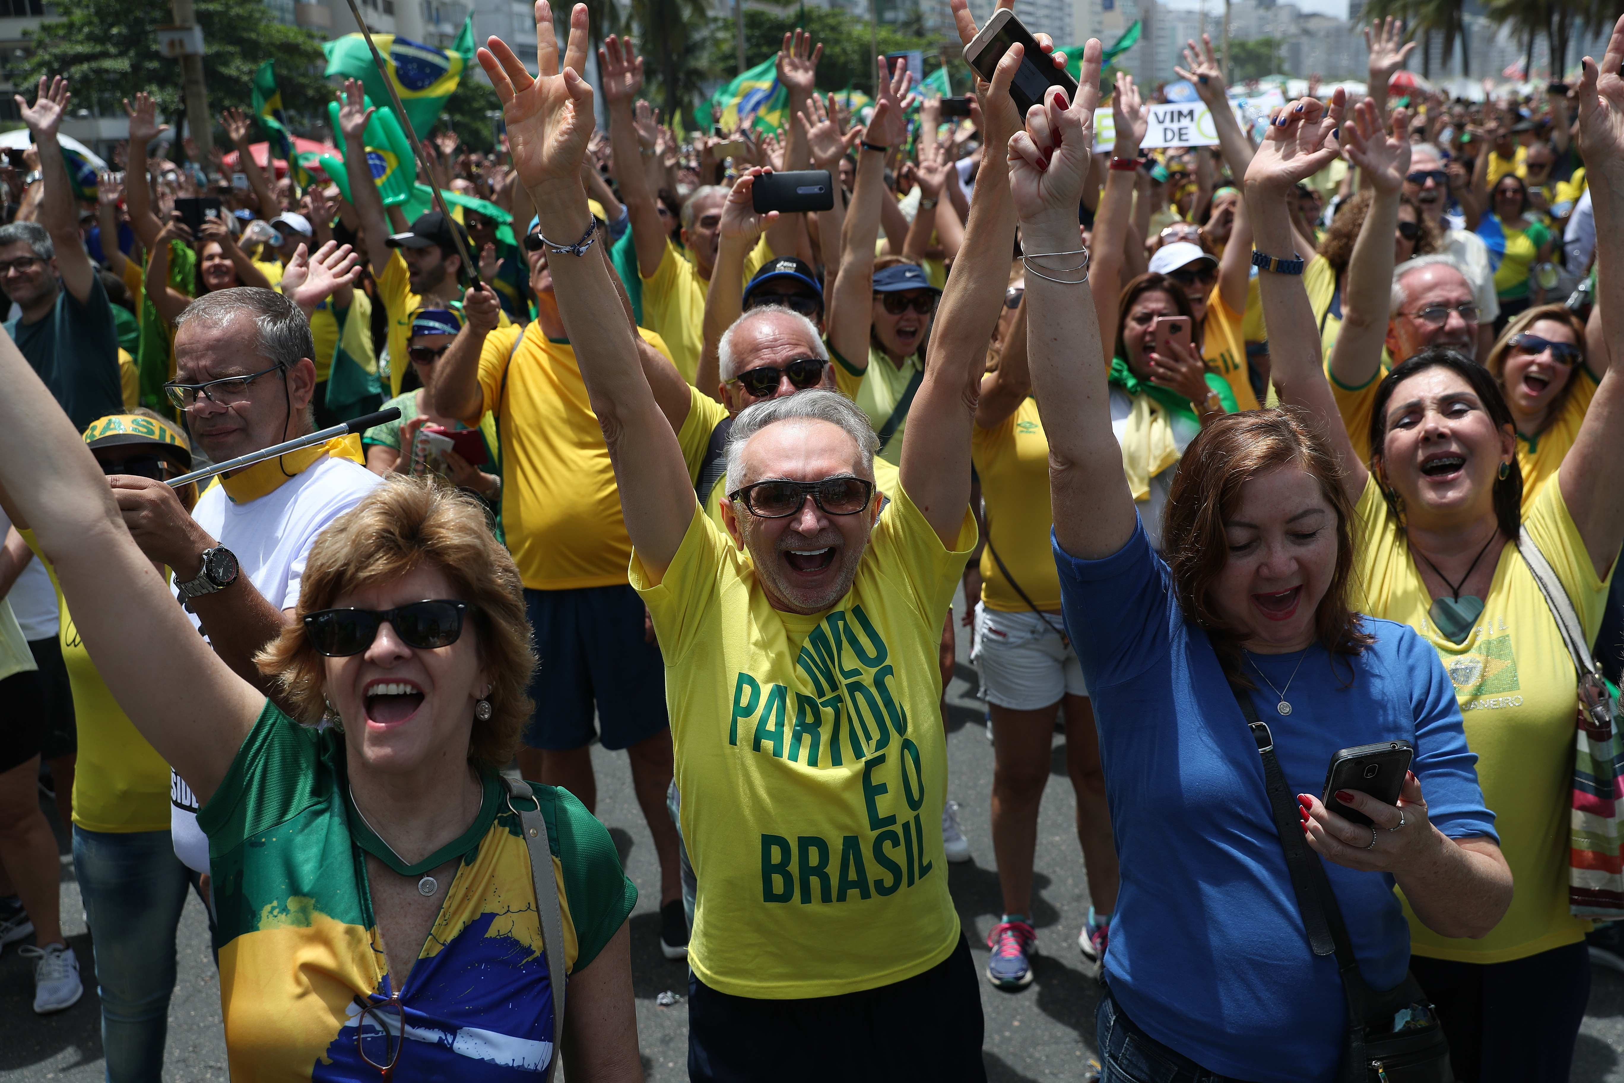
[[[981,477],[987,544],[981,550],[981,601],[987,609],[1028,612],[1026,602],[999,572],[1004,567],[1039,609],[1060,607],[1060,576],[1054,568],[1049,529],[1049,437],[1043,432],[1038,399],[1026,396],[1009,417],[970,435],[970,456]]]

